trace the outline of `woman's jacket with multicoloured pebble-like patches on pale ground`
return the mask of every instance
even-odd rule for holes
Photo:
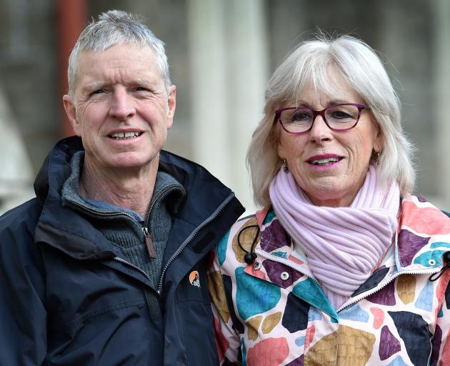
[[[256,225],[257,258],[246,264],[238,236],[249,251]],[[272,209],[242,219],[209,270],[221,365],[450,365],[446,252],[450,218],[404,197],[395,244],[336,311]]]

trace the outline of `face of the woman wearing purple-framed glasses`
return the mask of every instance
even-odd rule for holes
[[[342,77],[334,80],[340,86],[336,95],[329,97],[307,87],[301,92],[297,107],[321,110],[338,103],[364,104]],[[281,129],[279,157],[286,159],[296,183],[313,204],[346,207],[364,183],[372,151],[382,149],[381,133],[375,125],[374,117],[366,109],[356,127],[342,132],[332,131],[318,116],[306,134],[294,135]],[[324,161],[329,158],[333,159]]]

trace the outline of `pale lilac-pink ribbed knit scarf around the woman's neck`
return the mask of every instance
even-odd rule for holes
[[[400,189],[386,191],[376,166],[349,207],[311,204],[291,172],[279,171],[270,186],[271,202],[281,224],[308,257],[312,274],[337,310],[379,266],[397,229]]]

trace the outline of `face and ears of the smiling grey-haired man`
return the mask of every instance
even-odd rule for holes
[[[174,118],[175,86],[167,95],[154,51],[116,44],[105,51],[82,51],[77,61],[74,101],[68,95],[63,100],[91,172],[157,167]]]

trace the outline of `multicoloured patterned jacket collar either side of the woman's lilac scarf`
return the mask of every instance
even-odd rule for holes
[[[256,248],[290,259],[302,272],[311,275],[306,256],[294,252],[291,237],[281,227],[272,207],[256,212],[261,239]],[[444,265],[442,255],[450,251],[450,217],[421,197],[407,194],[401,199],[401,216],[394,246],[380,268],[396,267],[394,272],[422,271]]]

